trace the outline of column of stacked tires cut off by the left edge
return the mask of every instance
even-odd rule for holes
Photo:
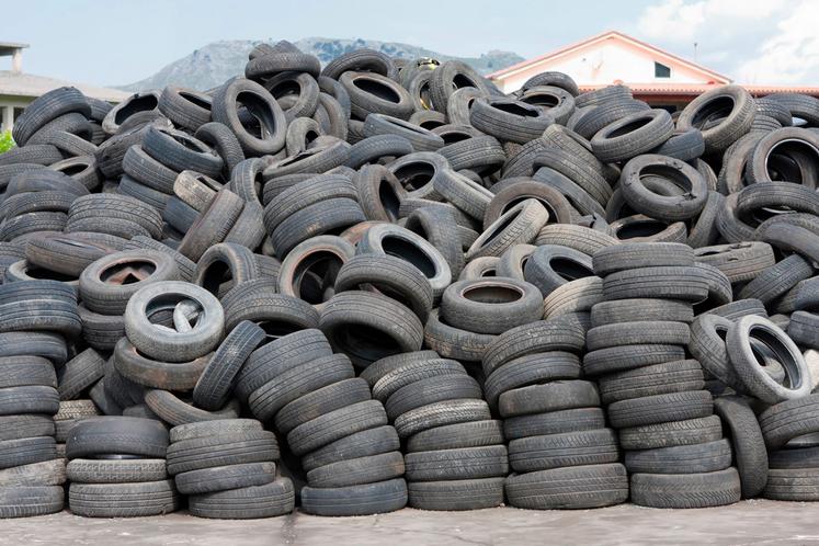
[[[66,341],[79,331],[75,287],[55,281],[0,287],[0,517],[62,510],[55,368],[65,366]]]

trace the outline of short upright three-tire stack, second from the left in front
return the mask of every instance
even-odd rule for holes
[[[71,512],[133,517],[178,510],[167,450],[168,430],[153,419],[98,417],[77,423],[66,442]]]

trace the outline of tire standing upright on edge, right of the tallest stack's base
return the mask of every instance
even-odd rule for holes
[[[716,398],[714,411],[730,434],[733,458],[742,486],[742,498],[752,499],[765,488],[769,467],[765,441],[757,416],[744,399],[736,396]]]

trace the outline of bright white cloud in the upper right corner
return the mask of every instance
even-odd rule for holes
[[[740,83],[819,84],[819,2],[662,0],[635,32]]]

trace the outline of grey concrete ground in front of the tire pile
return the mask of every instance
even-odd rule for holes
[[[202,520],[184,513],[93,520],[62,512],[0,521],[0,544],[803,545],[819,544],[819,503],[753,500],[702,510],[655,510],[622,504],[550,512],[512,508],[448,513],[405,509],[366,517],[295,513],[251,521]]]

